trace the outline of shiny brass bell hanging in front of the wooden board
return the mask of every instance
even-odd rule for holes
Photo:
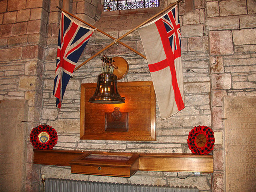
[[[117,76],[108,72],[99,74],[96,91],[89,102],[101,104],[124,103],[124,98],[118,93]]]

